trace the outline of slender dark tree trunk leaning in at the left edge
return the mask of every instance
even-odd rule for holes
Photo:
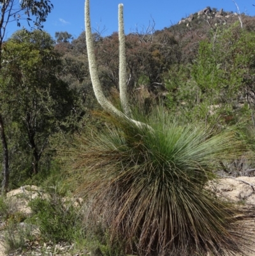
[[[6,195],[9,184],[9,158],[8,158],[8,146],[4,133],[4,123],[0,114],[0,135],[3,145],[3,181],[2,181],[2,195]]]

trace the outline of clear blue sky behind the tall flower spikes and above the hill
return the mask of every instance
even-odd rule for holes
[[[77,38],[84,31],[84,0],[51,0],[51,3],[54,4],[54,10],[44,24],[45,30],[53,37],[56,31],[68,31]],[[124,4],[125,33],[135,32],[136,27],[141,31],[149,26],[152,19],[156,23],[155,29],[163,29],[207,6],[237,11],[232,0],[91,0],[91,24],[99,31],[105,27],[103,36],[117,31],[119,3]],[[252,6],[255,0],[236,0],[236,3],[241,12],[255,15],[255,6]],[[9,24],[7,37],[15,30],[15,23]]]

